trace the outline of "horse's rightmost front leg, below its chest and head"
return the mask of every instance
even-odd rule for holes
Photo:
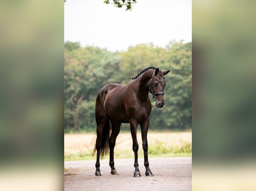
[[[142,148],[144,151],[144,166],[146,168],[145,175],[146,176],[154,176],[149,168],[149,162],[148,162],[148,142],[147,142],[148,126],[149,126],[148,118],[143,123],[140,123],[141,137],[142,137]]]

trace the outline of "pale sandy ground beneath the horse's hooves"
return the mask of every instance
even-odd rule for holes
[[[145,176],[144,159],[139,158],[141,177],[133,177],[134,159],[115,159],[119,175],[110,174],[109,160],[100,160],[102,176],[95,176],[96,160],[65,161],[65,191],[98,190],[191,190],[192,157],[150,158],[149,166],[154,176]]]

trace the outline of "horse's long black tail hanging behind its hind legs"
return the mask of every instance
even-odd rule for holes
[[[101,136],[101,145],[100,145],[100,156],[103,159],[104,156],[106,156],[109,152],[109,137],[110,137],[110,133],[111,133],[111,123],[110,120],[107,119],[102,132],[102,136]],[[97,150],[97,143],[98,143],[98,135],[97,135],[97,139],[96,139],[96,143],[95,143],[95,147],[93,150],[93,155],[95,154],[96,150]]]

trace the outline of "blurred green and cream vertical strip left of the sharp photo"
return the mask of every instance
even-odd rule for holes
[[[0,2],[0,190],[62,187],[63,8]]]

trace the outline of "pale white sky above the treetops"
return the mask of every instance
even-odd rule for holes
[[[165,47],[171,40],[192,41],[191,0],[137,0],[132,11],[104,0],[67,0],[64,41],[127,50],[140,43]]]

